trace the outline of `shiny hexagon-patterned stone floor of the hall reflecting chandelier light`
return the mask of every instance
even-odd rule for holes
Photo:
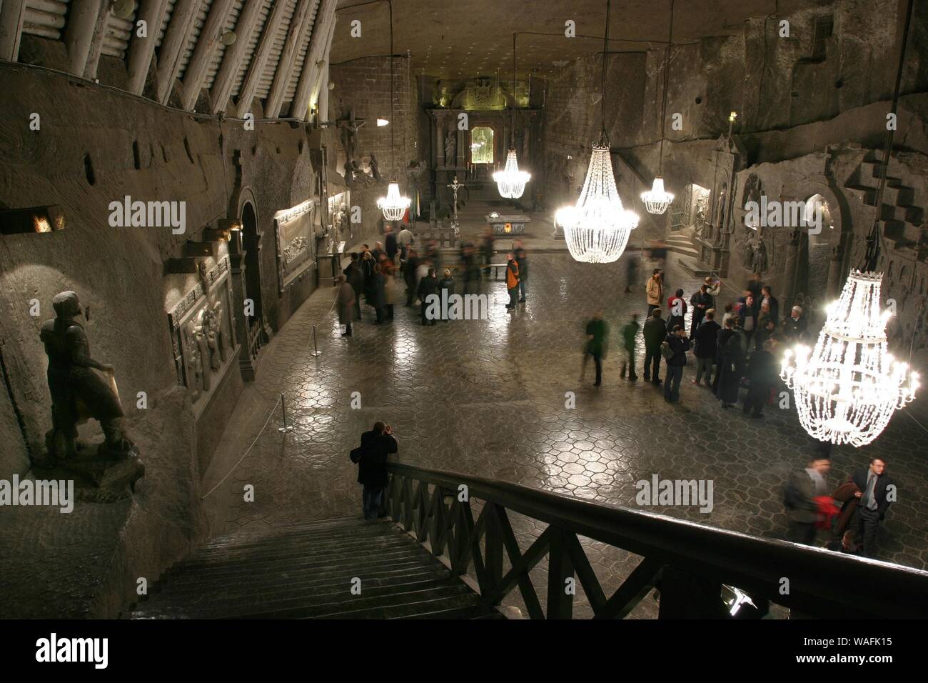
[[[623,294],[625,259],[617,264],[580,264],[564,254],[531,256],[528,302],[513,313],[503,307],[502,282],[487,282],[493,304],[489,320],[419,324],[418,309],[397,306],[391,324],[373,325],[371,309],[354,337],[340,336],[328,313],[332,290],[316,292],[266,351],[257,381],[230,421],[204,479],[209,490],[254,446],[210,501],[213,528],[233,530],[359,512],[360,487],[348,452],[375,420],[393,425],[400,462],[505,479],[617,506],[636,506],[635,481],[713,479],[715,508],[664,507],[663,514],[783,538],[787,519],[782,486],[791,470],[805,466],[815,443],[792,411],[767,408],[766,419],[741,410],[723,411],[708,389],[690,385],[686,369],[682,401],[670,406],[663,393],[619,378],[619,329],[629,314],[643,322],[642,287]],[[644,273],[647,269],[642,268]],[[676,265],[668,285],[687,296],[696,283]],[[729,291],[730,294],[730,291]],[[602,309],[612,331],[604,383],[592,387],[592,367],[578,381],[583,325]],[[313,358],[312,325],[319,348]],[[641,357],[638,374],[641,374]],[[663,371],[663,368],[662,368]],[[663,375],[663,372],[662,372]],[[565,392],[576,407],[565,409]],[[361,408],[353,409],[359,392]],[[283,393],[293,430],[282,435]],[[887,462],[899,489],[882,529],[880,558],[923,569],[928,566],[925,432],[897,413],[875,444],[832,453],[830,484],[844,481],[870,455]],[[246,484],[253,503],[243,502]],[[650,509],[650,508],[649,508]],[[654,510],[652,510],[654,511]],[[542,531],[531,520],[513,519],[524,549]],[[824,539],[822,539],[824,542]],[[607,592],[637,558],[586,541],[587,555]],[[543,567],[536,570],[543,585]],[[578,597],[577,611],[585,609]],[[652,616],[645,600],[633,616]]]

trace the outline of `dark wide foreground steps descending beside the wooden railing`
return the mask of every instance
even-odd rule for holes
[[[214,538],[123,616],[505,618],[393,523],[354,518]]]

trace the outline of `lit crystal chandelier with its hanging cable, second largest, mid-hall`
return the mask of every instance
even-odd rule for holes
[[[609,48],[611,0],[606,0],[606,35],[602,46],[601,114],[599,142],[593,144],[586,180],[573,206],[565,206],[555,216],[564,229],[564,240],[571,256],[587,263],[611,263],[622,256],[631,231],[638,227],[638,215],[626,210],[615,187],[612,156],[606,135],[606,52]]]

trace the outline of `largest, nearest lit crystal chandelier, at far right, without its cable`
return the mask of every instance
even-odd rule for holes
[[[780,377],[793,389],[800,423],[820,441],[865,446],[915,398],[918,374],[887,352],[892,312],[880,311],[882,281],[883,273],[851,270],[815,348],[786,352]]]

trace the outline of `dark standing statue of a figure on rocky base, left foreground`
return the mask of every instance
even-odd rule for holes
[[[48,454],[54,460],[77,452],[77,426],[94,418],[105,440],[97,452],[110,457],[128,454],[135,444],[122,428],[122,405],[116,393],[111,365],[90,356],[84,327],[75,318],[84,311],[75,292],[52,299],[55,318],[42,323],[40,338],[48,356],[48,390],[52,397],[52,429],[45,434]],[[97,374],[107,375],[107,379]]]

